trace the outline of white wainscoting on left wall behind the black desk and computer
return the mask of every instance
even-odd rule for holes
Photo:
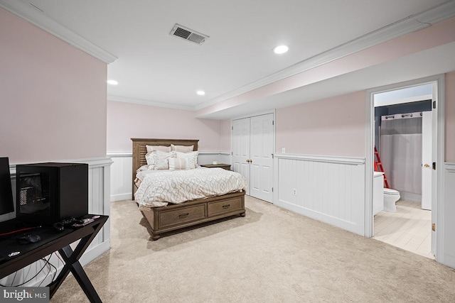
[[[87,163],[88,164],[88,173],[89,173],[89,197],[88,197],[88,211],[90,214],[103,214],[109,216],[110,214],[110,201],[109,201],[109,187],[110,187],[110,166],[112,160],[110,158],[90,158],[90,159],[78,159],[78,160],[58,160],[56,162],[71,162],[71,163]],[[11,165],[11,184],[13,187],[13,192],[16,192],[16,165]],[[15,196],[15,194],[13,195]],[[16,206],[15,206],[16,207]],[[16,217],[15,213],[6,214],[0,216],[0,221],[5,221],[8,219],[14,219]],[[72,245],[74,246],[74,245]],[[107,220],[105,226],[93,239],[90,246],[85,250],[85,253],[80,258],[80,264],[82,266],[86,265],[90,261],[94,260],[105,251],[110,248],[110,219]],[[14,285],[21,284],[25,282],[33,275],[36,275],[36,272],[39,272],[43,267],[43,263],[38,261],[32,265],[27,266],[21,270],[18,270],[16,274],[9,275],[0,280],[1,285]],[[55,255],[50,258],[50,263],[52,263],[57,271],[63,268],[63,263],[55,257]],[[58,274],[58,273],[57,273]],[[24,286],[36,286],[36,285],[47,285],[48,279],[53,276],[53,272],[40,272],[40,275],[35,277],[33,280],[28,282]],[[47,280],[44,280],[47,279]],[[44,280],[44,282],[43,282]]]

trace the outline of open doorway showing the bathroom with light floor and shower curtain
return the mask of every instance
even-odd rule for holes
[[[382,211],[373,213],[373,238],[434,259],[432,98],[431,83],[373,96],[374,142],[387,180],[384,185],[400,194],[393,206],[385,202]]]

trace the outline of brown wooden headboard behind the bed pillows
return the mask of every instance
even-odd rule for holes
[[[146,165],[147,161],[145,160],[145,155],[147,153],[146,145],[161,145],[161,146],[171,146],[173,145],[193,145],[193,150],[198,150],[199,140],[190,140],[190,139],[144,139],[144,138],[131,138],[133,141],[133,187],[132,187],[132,199],[134,200],[134,192],[136,192],[136,184],[134,184],[134,179],[136,179],[136,171],[142,165]]]

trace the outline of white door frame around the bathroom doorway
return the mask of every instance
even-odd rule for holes
[[[445,75],[434,75],[431,77],[424,77],[421,79],[414,79],[407,82],[400,82],[395,84],[386,85],[383,87],[376,87],[368,89],[365,98],[365,231],[364,236],[367,238],[373,237],[373,145],[374,145],[374,102],[373,95],[380,92],[387,92],[395,89],[401,89],[405,87],[412,87],[419,84],[436,83],[436,98],[437,106],[437,121],[433,125],[437,125],[437,153],[433,155],[433,160],[436,162],[436,180],[433,180],[433,192],[432,192],[432,222],[436,224],[436,231],[432,231],[432,241],[436,241],[433,246],[436,251],[435,258],[440,263],[444,253],[443,243],[443,214],[439,209],[443,209],[442,203],[444,202],[444,160],[445,160],[445,116],[444,116],[444,104],[445,104]]]

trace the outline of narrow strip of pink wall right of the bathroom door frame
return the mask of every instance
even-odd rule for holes
[[[455,162],[455,72],[446,74],[446,162]]]

